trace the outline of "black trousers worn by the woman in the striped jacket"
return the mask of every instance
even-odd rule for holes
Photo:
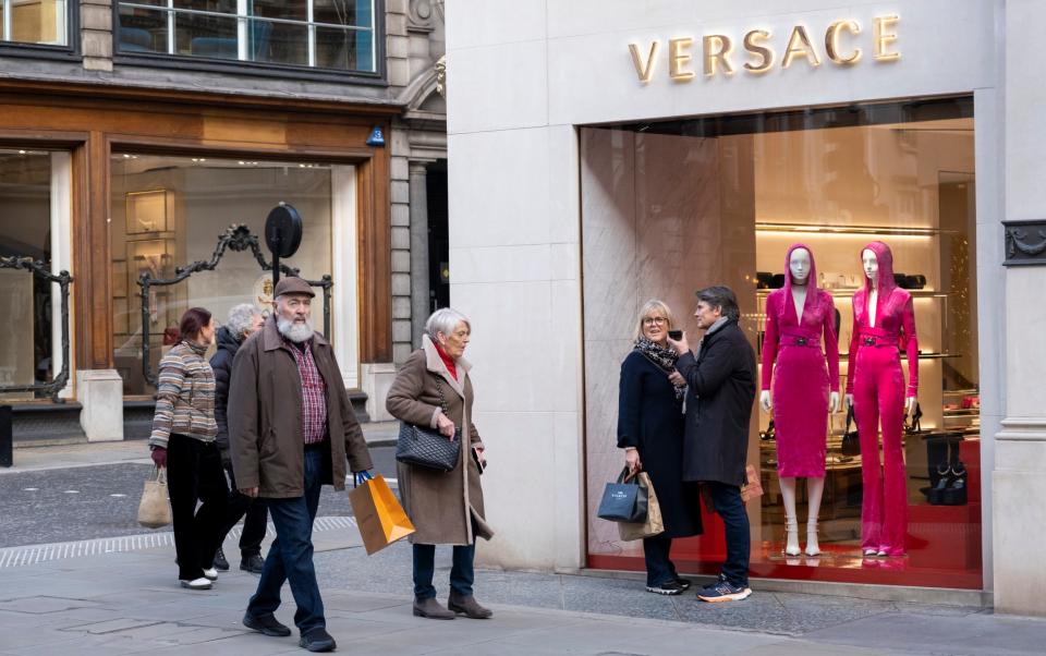
[[[167,486],[174,520],[178,578],[192,581],[215,566],[229,488],[214,442],[172,433],[167,442]],[[196,500],[203,501],[197,510]]]

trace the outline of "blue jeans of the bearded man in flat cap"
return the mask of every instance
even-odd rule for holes
[[[313,567],[313,520],[319,506],[323,463],[321,451],[306,449],[305,496],[266,499],[276,526],[276,539],[265,559],[258,591],[247,604],[247,612],[254,617],[275,612],[280,606],[280,588],[284,581],[289,581],[297,604],[294,623],[303,634],[327,625]]]

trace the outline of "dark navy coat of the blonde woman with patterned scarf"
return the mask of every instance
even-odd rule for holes
[[[621,363],[618,447],[635,447],[650,477],[665,537],[698,535],[700,490],[683,482],[683,406],[668,374],[638,351]]]

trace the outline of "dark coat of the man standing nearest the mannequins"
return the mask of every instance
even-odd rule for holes
[[[683,353],[676,368],[689,386],[683,479],[743,485],[755,401],[755,351],[738,323],[729,320],[705,336],[697,357]]]

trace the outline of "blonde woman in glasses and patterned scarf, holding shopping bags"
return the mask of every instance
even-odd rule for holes
[[[646,590],[679,595],[690,588],[669,558],[673,537],[702,532],[700,490],[683,482],[683,397],[686,381],[676,370],[679,357],[668,347],[674,320],[668,305],[647,301],[640,309],[635,345],[621,363],[618,394],[618,448],[632,473],[643,470],[661,510],[664,533],[643,538]]]

